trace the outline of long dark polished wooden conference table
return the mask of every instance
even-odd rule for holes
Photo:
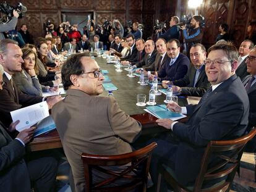
[[[146,94],[148,101],[148,93],[150,85],[140,85],[137,83],[139,77],[130,78],[127,76],[128,72],[122,69],[122,72],[116,72],[116,67],[113,64],[106,64],[106,59],[102,57],[95,57],[96,62],[100,65],[101,69],[108,70],[108,77],[111,83],[117,86],[118,90],[113,91],[114,98],[116,98],[119,107],[129,114],[130,117],[142,123],[142,135],[160,133],[168,131],[163,127],[156,124],[156,117],[148,114],[143,109],[145,107],[136,106],[137,94]],[[105,91],[102,96],[107,96],[108,91]],[[157,104],[164,104],[165,95],[156,96]],[[186,98],[179,97],[179,105],[185,106],[187,104]],[[181,122],[186,119],[181,119]],[[28,151],[41,151],[45,149],[62,148],[61,140],[57,130],[50,131],[49,133],[42,134],[33,138],[32,142],[28,144]]]

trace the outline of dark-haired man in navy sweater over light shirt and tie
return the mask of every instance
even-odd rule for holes
[[[163,65],[162,69],[158,71],[158,77],[161,80],[179,80],[183,78],[187,70],[189,69],[189,58],[182,54],[180,51],[181,44],[179,40],[169,40],[167,43],[168,61]],[[150,80],[154,78],[154,75],[150,75]]]

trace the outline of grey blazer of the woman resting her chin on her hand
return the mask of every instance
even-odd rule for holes
[[[15,84],[19,86],[20,90],[23,93],[35,95],[35,96],[42,96],[42,87],[39,83],[38,78],[31,78],[30,75],[25,71],[22,70],[20,73],[15,73],[13,75]],[[46,87],[44,87],[44,91],[46,91]]]

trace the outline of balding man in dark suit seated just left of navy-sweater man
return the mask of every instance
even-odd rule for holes
[[[150,66],[145,67],[145,70],[151,71],[153,73],[158,73],[162,69],[165,62],[168,60],[168,54],[166,54],[166,41],[163,38],[159,38],[156,41],[156,59]]]

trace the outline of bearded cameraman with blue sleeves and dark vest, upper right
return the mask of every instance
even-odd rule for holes
[[[182,33],[187,43],[187,50],[190,50],[191,46],[195,43],[202,43],[203,31],[201,26],[203,25],[203,17],[201,15],[194,15],[190,21],[190,31],[187,33],[185,25],[181,27]]]

